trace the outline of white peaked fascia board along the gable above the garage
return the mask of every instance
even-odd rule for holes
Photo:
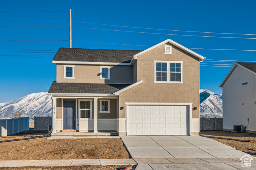
[[[152,46],[152,47],[150,47],[148,49],[145,49],[144,51],[141,51],[138,54],[135,54],[132,59],[136,59],[139,55],[142,55],[142,54],[144,54],[144,53],[146,53],[146,52],[148,52],[148,51],[150,51],[150,50],[152,50],[152,49],[154,49],[154,48],[156,48],[156,47],[158,47],[160,45],[163,45],[165,43],[171,43],[172,45],[175,45],[176,47],[179,47],[180,49],[183,49],[184,51],[190,53],[191,55],[194,55],[195,57],[198,57],[200,60],[204,60],[206,58],[206,57],[203,57],[202,55],[192,51],[191,49],[188,49],[188,48],[184,47],[183,45],[181,45],[181,44],[179,44],[177,42],[174,42],[173,40],[171,40],[169,38],[169,39],[167,39],[167,40],[165,40],[163,42],[160,42],[160,43],[158,43],[158,44],[156,44],[156,45],[154,45],[154,46]]]

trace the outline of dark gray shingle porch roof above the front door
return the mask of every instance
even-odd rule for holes
[[[48,93],[111,94],[127,86],[129,84],[56,83],[53,81]]]

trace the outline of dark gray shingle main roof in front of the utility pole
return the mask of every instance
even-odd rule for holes
[[[130,63],[138,50],[59,48],[53,61]]]

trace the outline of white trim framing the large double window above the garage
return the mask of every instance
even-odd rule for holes
[[[156,81],[156,63],[167,63],[167,81]],[[180,81],[170,81],[170,63],[180,63]],[[154,61],[154,83],[183,83],[183,61]]]

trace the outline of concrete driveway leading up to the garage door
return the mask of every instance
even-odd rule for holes
[[[121,138],[132,158],[138,163],[136,170],[252,168],[241,166],[240,158],[246,153],[201,136],[121,136]]]

